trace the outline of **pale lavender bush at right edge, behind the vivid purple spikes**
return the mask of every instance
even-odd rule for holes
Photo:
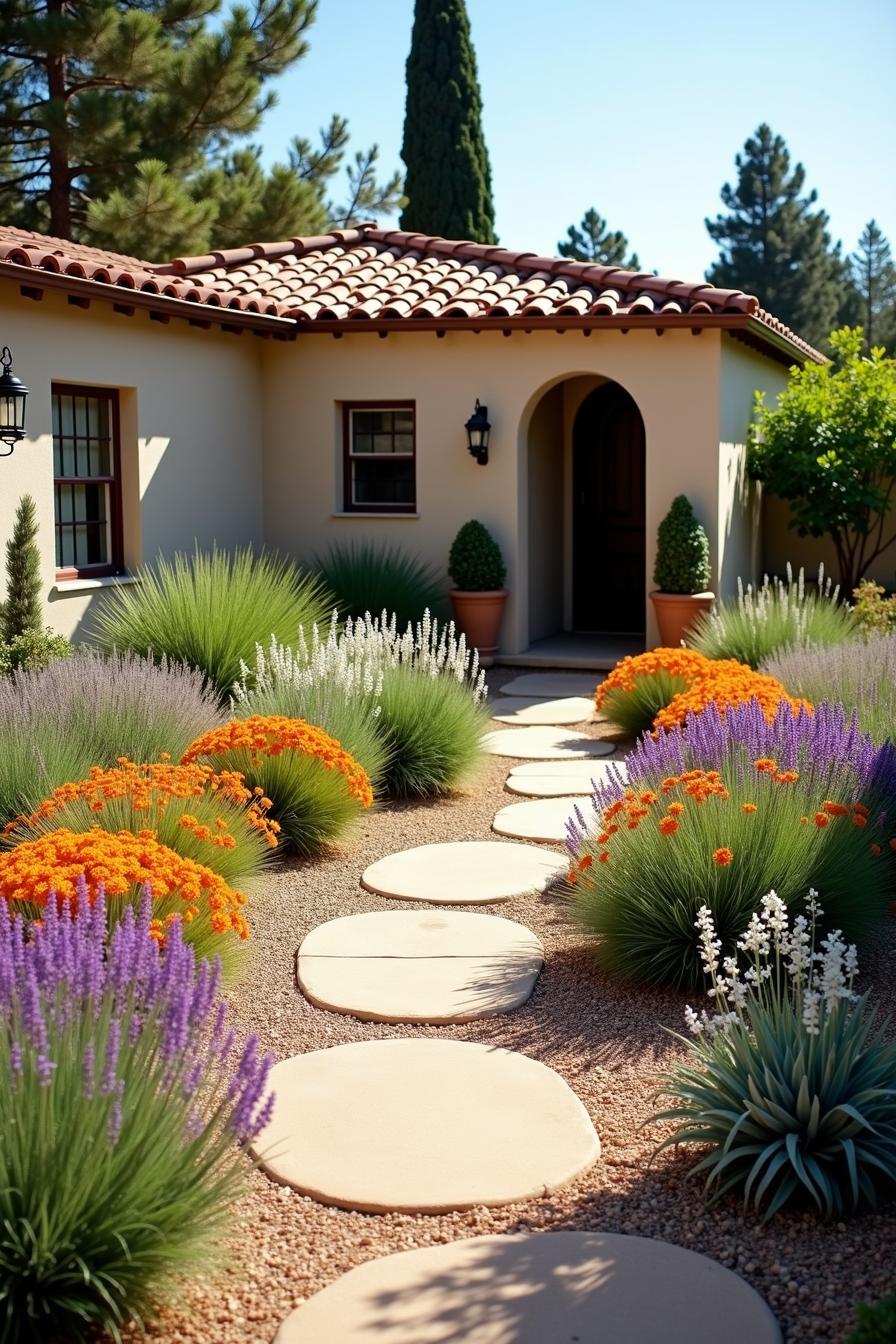
[[[789,649],[767,659],[763,671],[791,695],[854,704],[862,730],[876,742],[896,741],[896,633],[827,649]]]

